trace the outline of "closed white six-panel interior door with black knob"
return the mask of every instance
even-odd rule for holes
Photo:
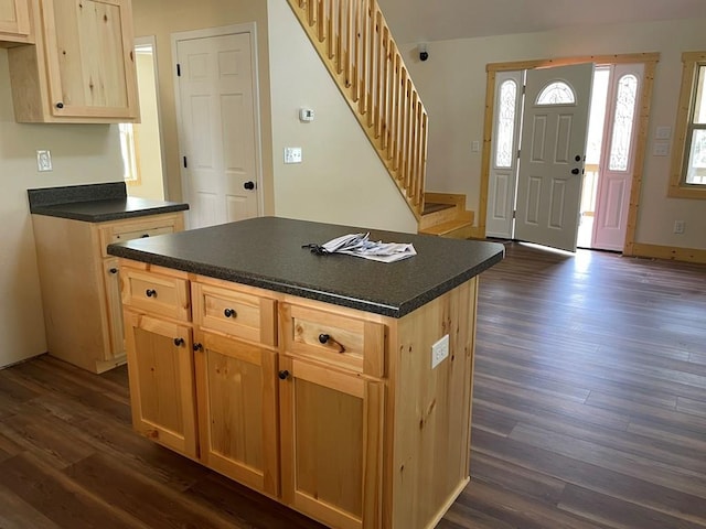
[[[188,226],[258,215],[257,114],[250,33],[176,37]]]

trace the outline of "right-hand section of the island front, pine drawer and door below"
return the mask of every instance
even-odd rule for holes
[[[281,303],[282,498],[331,527],[382,527],[385,326]]]

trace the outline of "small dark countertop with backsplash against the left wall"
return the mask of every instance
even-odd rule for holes
[[[28,196],[33,214],[87,223],[189,209],[189,204],[127,196],[125,182],[28,190]]]

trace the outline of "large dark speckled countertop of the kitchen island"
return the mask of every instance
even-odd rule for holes
[[[302,298],[402,317],[500,262],[495,242],[370,230],[371,240],[413,242],[417,256],[382,263],[318,256],[323,244],[363,228],[259,217],[108,246],[108,253]]]

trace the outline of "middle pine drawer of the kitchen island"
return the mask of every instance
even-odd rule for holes
[[[232,283],[225,287],[193,282],[194,323],[204,330],[276,346],[277,303],[254,291]]]

